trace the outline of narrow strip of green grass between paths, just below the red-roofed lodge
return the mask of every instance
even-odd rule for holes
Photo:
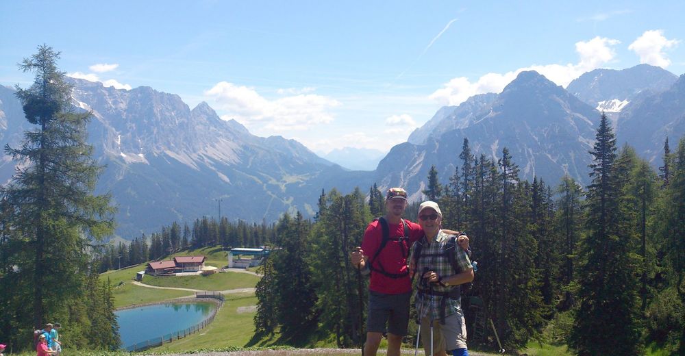
[[[158,287],[190,288],[197,290],[232,290],[254,288],[260,277],[249,273],[224,272],[208,276],[153,277],[145,276],[142,283]]]

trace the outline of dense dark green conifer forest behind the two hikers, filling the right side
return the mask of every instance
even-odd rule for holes
[[[469,331],[468,301],[477,296],[479,316],[493,320],[508,350],[534,338],[579,355],[685,350],[685,139],[673,154],[665,142],[657,173],[631,147],[616,147],[602,115],[587,187],[570,177],[521,180],[506,148],[497,161],[475,157],[465,139],[455,154],[462,164],[450,183],[441,186],[432,170],[424,194],[440,203],[443,226],[469,234],[479,262],[463,299]],[[340,347],[363,342],[367,280],[349,265],[349,252],[383,214],[382,193],[369,193],[367,200],[361,190],[331,190],[314,221],[279,220],[271,244],[281,249],[258,284],[258,333],[279,330],[298,344],[312,338],[303,331],[318,328]],[[495,345],[490,328],[470,342]]]

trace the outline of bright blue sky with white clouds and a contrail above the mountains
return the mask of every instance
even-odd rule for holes
[[[685,1],[0,0],[0,85],[40,44],[72,77],[206,101],[324,155],[387,152],[444,105],[521,71],[685,73]]]

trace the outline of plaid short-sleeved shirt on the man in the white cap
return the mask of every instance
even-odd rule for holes
[[[458,266],[458,271],[455,272],[453,267],[449,265],[447,255],[445,255],[445,245],[447,242],[449,242],[451,237],[452,235],[447,235],[447,233],[444,233],[442,230],[440,230],[438,231],[438,235],[436,235],[435,239],[432,240],[430,244],[427,243],[427,238],[423,236],[421,240],[412,246],[410,261],[413,261],[414,259],[414,252],[416,251],[417,244],[423,244],[423,247],[421,247],[420,259],[416,262],[416,273],[419,275],[419,288],[426,288],[425,286],[421,285],[421,277],[423,276],[423,272],[427,270],[432,270],[438,273],[438,276],[445,279],[446,277],[455,275],[456,273],[464,272],[469,270],[469,268],[473,268],[473,266],[471,266],[471,260],[469,259],[469,256],[466,255],[466,252],[462,250],[461,247],[456,243],[454,262]],[[443,287],[438,283],[433,283],[432,287],[435,292],[449,292],[449,290],[455,286],[447,285],[447,287]],[[461,308],[460,298],[452,299],[443,296],[432,296],[427,293],[424,293],[423,298],[421,298],[421,294],[419,294],[418,290],[416,292],[416,311],[420,312],[422,316],[427,316],[432,320],[439,320],[441,309],[440,304],[443,298],[447,298],[447,301],[445,301],[445,316],[449,316],[459,311]]]

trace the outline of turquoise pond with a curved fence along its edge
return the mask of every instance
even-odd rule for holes
[[[124,309],[115,312],[119,322],[121,346],[188,329],[209,318],[214,303],[166,303]]]

